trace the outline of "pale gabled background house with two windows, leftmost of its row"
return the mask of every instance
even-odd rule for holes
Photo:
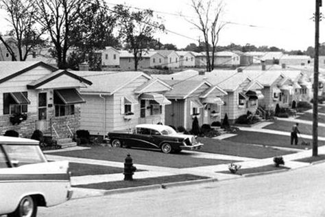
[[[119,51],[114,47],[105,47],[101,51],[101,68],[119,68]]]

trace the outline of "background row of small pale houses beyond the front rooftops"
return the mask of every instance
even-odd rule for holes
[[[132,52],[117,50],[114,47],[98,51],[101,54],[101,65],[105,69],[119,68],[123,70],[134,70],[134,56]],[[212,54],[210,54],[210,57]],[[250,65],[251,56],[244,56],[242,52],[215,52],[214,65],[216,67],[232,67],[239,65]],[[148,50],[142,53],[139,61],[139,69],[168,68],[177,69],[184,67],[205,67],[205,52],[189,52],[174,50]]]

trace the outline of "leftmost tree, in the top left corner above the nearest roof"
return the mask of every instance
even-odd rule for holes
[[[0,0],[0,5],[8,14],[7,20],[13,28],[9,36],[14,38],[14,43],[8,43],[3,36],[0,36],[0,41],[12,56],[12,60],[17,60],[17,51],[18,60],[24,61],[36,45],[44,42],[40,38],[42,32],[36,28],[36,21],[33,19],[36,8],[33,7],[32,1],[28,0]]]

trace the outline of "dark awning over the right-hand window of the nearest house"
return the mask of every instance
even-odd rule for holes
[[[54,104],[79,104],[86,102],[76,89],[54,90]]]

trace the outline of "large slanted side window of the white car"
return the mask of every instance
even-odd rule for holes
[[[18,161],[19,165],[46,162],[39,146],[3,145],[3,149],[10,161]]]

